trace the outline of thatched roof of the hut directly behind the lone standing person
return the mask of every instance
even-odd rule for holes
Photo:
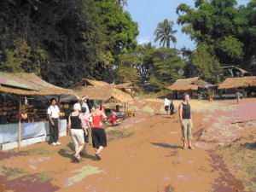
[[[199,87],[205,87],[206,81],[199,77],[190,79],[177,79],[173,84],[166,86],[168,90],[198,90]]]

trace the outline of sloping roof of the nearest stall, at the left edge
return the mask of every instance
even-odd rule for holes
[[[33,73],[0,72],[0,91],[18,95],[73,94],[72,90],[49,84]]]

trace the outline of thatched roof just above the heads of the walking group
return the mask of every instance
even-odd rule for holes
[[[82,96],[89,96],[90,99],[107,101],[111,98],[116,99],[119,102],[131,102],[133,98],[113,86],[113,84],[105,84],[102,86],[80,86],[73,88],[76,96],[80,98]]]

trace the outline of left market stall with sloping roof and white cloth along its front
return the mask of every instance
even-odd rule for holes
[[[37,140],[38,136],[43,136],[40,139],[47,140],[49,125],[46,121],[46,109],[49,107],[49,102],[38,101],[34,96],[73,94],[72,90],[49,84],[33,73],[3,72],[0,72],[0,92],[2,149],[4,149],[3,144],[12,142],[15,142],[13,147],[20,148],[21,140],[27,138]],[[60,132],[65,134],[66,129],[67,119],[61,119]],[[27,141],[22,142],[25,145],[27,143]]]

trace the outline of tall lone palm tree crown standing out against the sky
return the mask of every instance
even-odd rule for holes
[[[172,20],[165,19],[163,22],[160,22],[156,30],[154,31],[154,35],[156,36],[154,38],[154,43],[160,40],[160,45],[162,44],[162,47],[170,48],[171,41],[174,44],[177,43],[177,38],[173,36],[177,32],[177,30],[173,30],[174,22]]]

